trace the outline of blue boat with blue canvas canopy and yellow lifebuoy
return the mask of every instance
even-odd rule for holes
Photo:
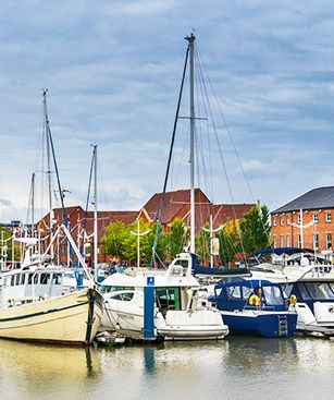
[[[296,330],[295,298],[286,301],[277,283],[255,279],[218,283],[211,302],[231,334],[286,338]]]

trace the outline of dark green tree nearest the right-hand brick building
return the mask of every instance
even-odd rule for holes
[[[240,222],[240,233],[245,255],[269,247],[271,242],[268,207],[251,207]]]

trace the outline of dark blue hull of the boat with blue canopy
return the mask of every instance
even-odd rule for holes
[[[222,317],[232,335],[260,336],[264,338],[290,337],[294,335],[297,324],[297,314],[285,313],[268,313],[252,316],[245,316],[242,313],[234,315],[222,313]]]

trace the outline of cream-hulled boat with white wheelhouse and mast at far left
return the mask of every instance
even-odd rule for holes
[[[44,90],[44,104],[46,109],[46,90]],[[61,193],[47,113],[46,133],[53,153]],[[50,163],[48,167],[50,174]],[[61,201],[64,210],[62,196]],[[87,346],[91,343],[99,328],[103,300],[96,289],[94,279],[66,226],[62,223],[53,233],[51,223],[50,216],[50,243],[41,257],[36,257],[34,254],[34,246],[38,240],[36,238],[22,238],[20,241],[25,246],[24,260],[20,268],[3,274],[3,286],[0,294],[2,306],[0,310],[0,338]],[[65,289],[66,268],[52,263],[53,243],[61,231],[65,233],[86,277],[91,282],[90,288],[72,292],[67,292]],[[51,251],[51,259],[49,251]]]

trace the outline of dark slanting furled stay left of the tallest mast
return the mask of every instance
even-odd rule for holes
[[[158,214],[158,218],[157,218],[157,229],[156,229],[154,242],[153,242],[153,246],[152,246],[152,256],[151,256],[151,262],[150,262],[150,268],[152,268],[154,263],[156,263],[156,250],[157,250],[158,239],[159,239],[159,234],[160,234],[161,216],[162,216],[162,211],[163,211],[163,207],[164,207],[165,191],[166,191],[166,185],[168,185],[169,174],[170,174],[170,168],[171,168],[171,162],[172,162],[175,134],[176,134],[176,128],[177,128],[177,120],[178,120],[181,101],[182,101],[183,86],[184,86],[185,75],[186,75],[186,71],[187,71],[188,54],[189,54],[189,46],[187,47],[187,50],[186,50],[186,57],[185,57],[185,62],[184,62],[184,68],[183,68],[183,74],[182,74],[181,87],[180,87],[180,93],[178,93],[177,107],[176,107],[174,125],[173,125],[172,141],[171,141],[170,153],[169,153],[169,160],[168,160],[168,166],[166,166],[166,170],[165,170],[165,177],[164,177],[164,182],[163,182],[163,190],[162,190],[162,195],[161,195],[159,214]]]

